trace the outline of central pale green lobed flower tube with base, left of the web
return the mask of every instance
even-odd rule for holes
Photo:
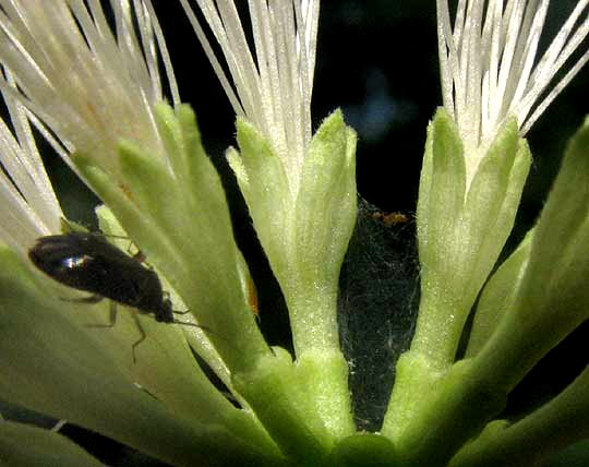
[[[241,119],[237,128],[240,152],[230,149],[227,157],[285,295],[299,378],[306,379],[301,391],[314,397],[313,417],[318,414],[332,435],[349,434],[353,423],[336,302],[356,220],[356,133],[334,112],[312,139],[300,172],[287,173],[265,135]],[[330,380],[321,376],[321,366]]]

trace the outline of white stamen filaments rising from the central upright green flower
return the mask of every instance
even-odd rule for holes
[[[188,0],[180,0],[225,92],[283,158],[297,192],[311,141],[318,0],[248,1],[251,37],[232,1],[197,0],[225,56],[227,76]]]

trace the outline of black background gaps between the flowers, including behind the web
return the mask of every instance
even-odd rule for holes
[[[573,3],[553,2],[551,17],[567,14]],[[259,287],[261,326],[268,342],[289,347],[280,291],[224,158],[227,146],[233,144],[235,116],[180,7],[170,0],[156,0],[155,5],[182,100],[195,109],[205,147],[224,176],[236,232]],[[548,29],[554,31],[558,24],[549,22]],[[425,128],[442,103],[435,27],[433,0],[330,0],[322,4],[314,128],[334,109],[344,110],[347,122],[359,133],[358,190],[371,203],[362,204],[344,267],[340,299],[341,340],[348,359],[354,362],[350,383],[360,429],[377,429],[393,383],[393,361],[407,347],[412,328],[418,298],[414,221],[388,227],[373,214],[378,209],[401,212],[411,218],[414,213]],[[588,110],[588,77],[587,70],[581,72],[528,134],[534,159],[509,246],[533,223],[566,141],[582,122]],[[68,216],[92,225],[96,200],[59,160],[47,155],[47,161]],[[516,388],[505,416],[529,410],[578,374],[586,364],[581,351],[586,338],[581,328],[553,351]],[[62,431],[109,465],[159,465],[75,427]]]

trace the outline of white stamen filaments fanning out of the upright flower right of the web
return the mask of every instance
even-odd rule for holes
[[[539,57],[550,0],[459,0],[452,25],[437,0],[444,106],[467,149],[484,149],[506,119],[524,136],[589,59],[588,0],[578,1]],[[561,7],[561,5],[558,5]]]

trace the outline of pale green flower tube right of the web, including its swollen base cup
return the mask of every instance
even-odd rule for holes
[[[488,415],[485,406],[477,402],[479,390],[471,380],[489,382],[471,364],[458,370],[453,363],[467,316],[512,230],[530,166],[529,148],[515,121],[497,134],[470,181],[468,157],[454,121],[444,109],[438,110],[428,133],[417,211],[420,312],[411,347],[397,364],[382,429],[405,455],[414,454],[416,450],[406,448],[417,443],[416,436],[421,438],[423,445],[418,451],[422,457],[416,454],[414,458],[428,462],[440,451],[435,440],[430,443],[423,436],[428,420],[438,414],[434,419],[445,423],[445,415],[456,411],[460,417],[465,410],[459,400],[444,395],[453,394],[453,382],[464,380],[460,384],[472,388],[472,394],[465,393],[465,400],[471,399],[469,406],[479,407],[483,418],[473,416],[472,423],[465,426],[467,434],[453,440],[442,436],[450,450],[446,456],[464,441],[460,435],[472,435]],[[437,390],[430,394],[423,387]],[[481,400],[484,398],[483,394]],[[502,407],[504,399],[500,388],[489,399],[490,407]]]

